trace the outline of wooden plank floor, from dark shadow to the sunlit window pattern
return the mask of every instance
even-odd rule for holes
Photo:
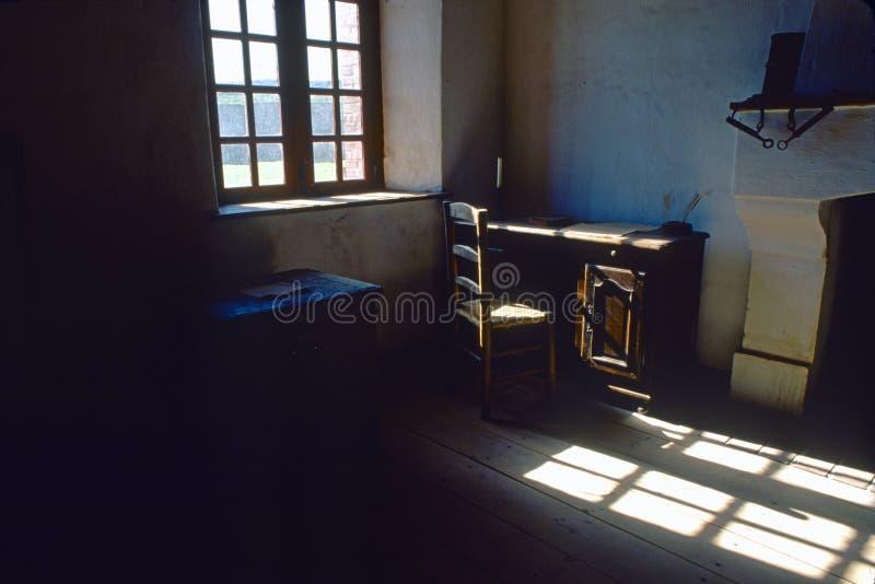
[[[505,421],[483,422],[472,392],[413,377],[386,412],[369,560],[385,580],[875,582],[866,469],[505,394]]]

